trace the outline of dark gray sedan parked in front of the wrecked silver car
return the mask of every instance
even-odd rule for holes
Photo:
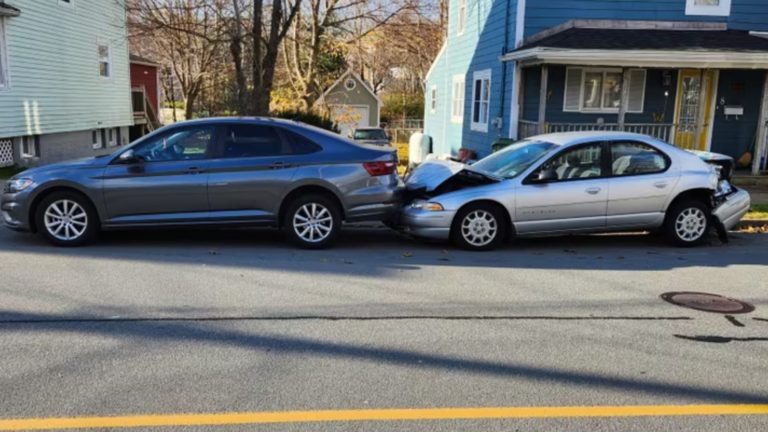
[[[18,174],[3,190],[2,218],[60,246],[108,229],[268,225],[321,248],[343,221],[385,220],[399,208],[396,166],[393,149],[296,122],[195,120],[106,157]]]

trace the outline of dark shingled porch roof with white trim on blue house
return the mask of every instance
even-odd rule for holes
[[[502,56],[526,64],[768,69],[768,37],[740,30],[569,28]]]

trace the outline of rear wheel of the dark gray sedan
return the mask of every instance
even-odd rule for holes
[[[288,204],[282,227],[297,246],[323,249],[338,237],[341,211],[338,204],[324,195],[305,195]]]

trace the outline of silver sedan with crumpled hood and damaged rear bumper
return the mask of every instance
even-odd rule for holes
[[[660,230],[693,246],[749,210],[749,194],[730,185],[720,159],[636,134],[542,135],[471,166],[422,165],[406,180],[411,202],[400,223],[472,250],[513,235],[626,230]]]

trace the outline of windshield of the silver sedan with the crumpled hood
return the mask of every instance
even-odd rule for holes
[[[555,147],[555,144],[543,141],[519,141],[480,160],[471,169],[496,177],[513,178]]]

